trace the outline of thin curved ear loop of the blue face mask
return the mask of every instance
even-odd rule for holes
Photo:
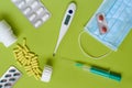
[[[103,57],[106,57],[106,56],[108,56],[108,55],[110,55],[111,53],[112,53],[112,51],[109,51],[109,52],[107,52],[106,54],[102,54],[102,55],[100,55],[100,56],[94,56],[94,55],[91,55],[91,54],[89,54],[89,53],[87,53],[84,48],[82,48],[82,45],[81,45],[81,35],[85,33],[86,31],[82,31],[82,32],[80,32],[79,33],[79,36],[78,36],[78,44],[79,44],[79,48],[80,48],[80,51],[82,52],[82,54],[85,55],[85,56],[87,56],[87,57],[90,57],[90,58],[92,58],[92,59],[100,59],[100,58],[103,58]]]

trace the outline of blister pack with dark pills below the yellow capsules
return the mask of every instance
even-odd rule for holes
[[[12,88],[22,74],[13,66],[11,66],[6,74],[0,78],[0,88]]]

